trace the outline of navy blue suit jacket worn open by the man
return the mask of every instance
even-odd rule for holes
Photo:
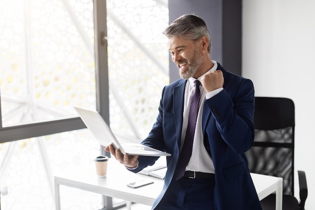
[[[214,204],[218,210],[260,210],[245,152],[254,141],[254,87],[252,81],[229,73],[218,63],[224,77],[223,91],[205,100],[202,115],[204,146],[215,168]],[[154,206],[164,196],[173,178],[180,153],[187,80],[163,89],[156,121],[142,144],[171,153],[167,157],[165,185]],[[138,158],[138,172],[154,164],[156,157]],[[202,193],[202,192],[200,192]]]

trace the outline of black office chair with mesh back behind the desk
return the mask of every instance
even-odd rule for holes
[[[304,210],[307,185],[298,171],[300,201],[294,197],[294,103],[287,98],[255,97],[255,139],[246,153],[253,173],[283,178],[283,210]],[[261,200],[264,210],[275,209],[275,194]]]

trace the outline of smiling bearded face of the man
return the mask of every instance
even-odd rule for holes
[[[200,41],[187,40],[181,37],[169,39],[170,52],[173,62],[179,68],[179,74],[183,79],[189,79],[202,72],[204,55],[200,48]]]

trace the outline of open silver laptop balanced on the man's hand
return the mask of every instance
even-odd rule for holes
[[[94,134],[100,145],[107,147],[113,144],[115,149],[119,149],[122,154],[141,156],[171,156],[171,154],[155,150],[153,148],[134,143],[119,143],[116,136],[104,121],[102,116],[93,110],[74,107],[86,126]]]

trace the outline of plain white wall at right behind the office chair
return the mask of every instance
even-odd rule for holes
[[[306,172],[305,209],[315,209],[315,0],[243,0],[242,62],[256,96],[295,103],[295,171]]]

